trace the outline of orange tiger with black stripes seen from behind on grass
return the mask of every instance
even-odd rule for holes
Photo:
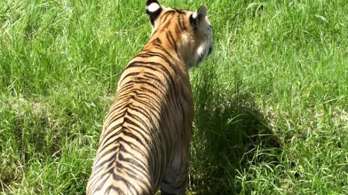
[[[189,69],[213,50],[208,9],[147,0],[148,42],[124,68],[104,118],[86,194],[183,195],[194,102]]]

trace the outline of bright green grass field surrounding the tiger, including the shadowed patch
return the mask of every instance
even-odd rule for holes
[[[209,8],[189,194],[348,194],[348,1]],[[145,1],[0,1],[0,194],[84,194]]]

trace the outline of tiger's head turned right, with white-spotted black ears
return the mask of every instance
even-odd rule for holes
[[[173,49],[188,68],[198,67],[213,51],[213,28],[206,6],[196,11],[171,9],[148,0],[146,13],[152,26],[149,43],[159,41]]]

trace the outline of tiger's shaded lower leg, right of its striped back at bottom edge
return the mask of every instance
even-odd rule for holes
[[[188,179],[188,157],[176,155],[161,183],[161,195],[184,195]]]

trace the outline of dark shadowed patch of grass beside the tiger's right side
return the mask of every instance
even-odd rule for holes
[[[212,68],[202,70],[194,89],[198,131],[191,165],[198,174],[192,175],[190,186],[198,194],[241,192],[239,173],[253,172],[250,167],[258,162],[277,165],[281,152],[277,136],[252,96],[238,86],[237,91],[226,93],[216,76]]]

